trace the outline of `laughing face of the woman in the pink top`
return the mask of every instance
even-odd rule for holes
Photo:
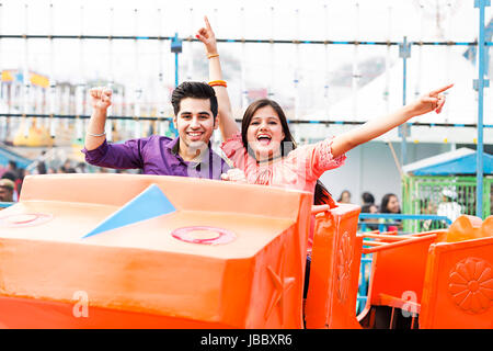
[[[246,140],[257,160],[280,155],[284,137],[279,116],[272,106],[261,107],[253,114],[246,131]]]

